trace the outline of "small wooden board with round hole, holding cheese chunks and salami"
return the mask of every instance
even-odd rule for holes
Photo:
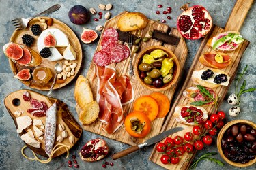
[[[30,95],[30,101],[25,101],[26,97],[23,96],[25,94]],[[34,107],[36,106],[36,101],[45,103],[46,108],[51,107],[51,105],[56,102],[57,122],[55,138],[53,139],[55,141],[54,145],[57,143],[62,143],[66,146],[70,146],[69,148],[72,148],[81,137],[83,129],[68,110],[68,105],[62,101],[59,101],[58,99],[48,98],[39,94],[38,92],[33,92],[32,90],[18,90],[5,97],[4,104],[10,116],[12,116],[12,119],[14,120],[14,124],[20,137],[24,137],[22,137],[22,139],[25,140],[25,144],[36,154],[48,157],[45,152],[44,141],[44,134],[46,133],[46,114],[40,115],[42,114],[42,109],[39,110],[38,114],[33,112],[29,113],[29,109],[35,109]],[[33,143],[26,143],[26,138],[28,137],[25,137],[27,136],[25,134],[30,131],[33,133],[29,134],[29,136],[31,137],[31,135],[34,135],[34,137],[29,138],[33,141]],[[57,139],[58,137],[63,138],[62,140],[59,140]],[[53,154],[52,158],[60,156],[66,152],[66,149],[60,148],[57,150],[57,152],[55,152],[55,154]]]

